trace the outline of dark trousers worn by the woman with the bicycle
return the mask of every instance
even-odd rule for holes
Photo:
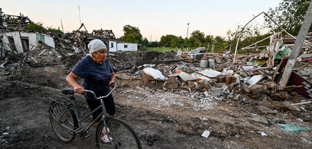
[[[89,108],[91,109],[91,111],[93,111],[94,109],[96,109],[98,106],[101,105],[101,101],[100,100],[94,100],[94,99],[89,99],[86,98],[87,103],[89,105]],[[105,109],[106,112],[110,115],[114,115],[116,112],[116,107],[115,107],[115,103],[114,103],[114,98],[112,97],[112,94],[110,94],[110,96],[103,98],[102,99],[105,105]],[[96,112],[94,112],[92,114],[93,117],[93,121],[102,113],[102,108],[98,109]],[[100,121],[101,119],[99,119],[98,121]],[[96,122],[98,122],[96,121]]]

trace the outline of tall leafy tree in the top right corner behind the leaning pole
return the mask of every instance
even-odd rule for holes
[[[277,8],[269,8],[268,15],[288,33],[297,35],[310,3],[310,0],[283,0]],[[266,16],[265,21],[272,33],[281,30]],[[310,30],[312,30],[312,26],[310,26]]]

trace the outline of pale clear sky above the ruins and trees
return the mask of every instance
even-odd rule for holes
[[[4,14],[28,16],[45,27],[72,32],[85,24],[88,32],[111,29],[116,37],[123,26],[139,28],[148,41],[162,35],[187,37],[194,30],[225,37],[228,30],[245,25],[260,12],[276,8],[282,0],[0,0]],[[78,10],[78,6],[80,11]],[[80,12],[80,17],[79,17]],[[263,17],[255,19],[263,24]]]

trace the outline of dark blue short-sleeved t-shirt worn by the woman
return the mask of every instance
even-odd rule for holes
[[[83,78],[83,87],[94,91],[96,96],[105,96],[110,92],[110,89],[105,87],[109,84],[114,71],[107,59],[102,64],[98,64],[87,55],[79,60],[71,72]],[[91,94],[85,95],[85,98],[94,99]]]

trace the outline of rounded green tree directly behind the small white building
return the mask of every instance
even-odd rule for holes
[[[121,42],[132,42],[141,44],[142,42],[142,35],[140,33],[139,28],[125,25],[123,26],[123,36],[121,37]]]

